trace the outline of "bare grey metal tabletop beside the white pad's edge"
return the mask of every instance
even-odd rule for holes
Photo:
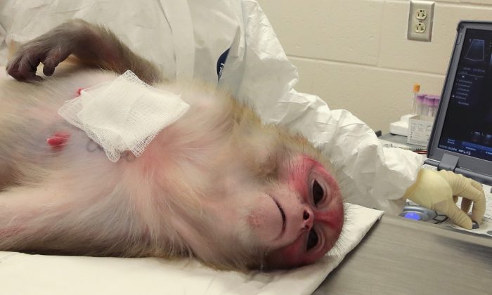
[[[314,294],[492,294],[492,239],[384,215]]]

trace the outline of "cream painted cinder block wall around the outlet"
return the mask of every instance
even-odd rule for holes
[[[441,94],[459,20],[492,21],[492,0],[434,2],[422,42],[406,38],[409,0],[259,0],[299,71],[297,91],[383,133],[410,111],[414,83]]]

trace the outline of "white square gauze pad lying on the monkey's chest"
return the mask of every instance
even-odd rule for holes
[[[127,71],[114,81],[81,91],[58,114],[103,147],[112,162],[126,150],[142,155],[157,133],[190,106],[180,96],[155,89]]]

